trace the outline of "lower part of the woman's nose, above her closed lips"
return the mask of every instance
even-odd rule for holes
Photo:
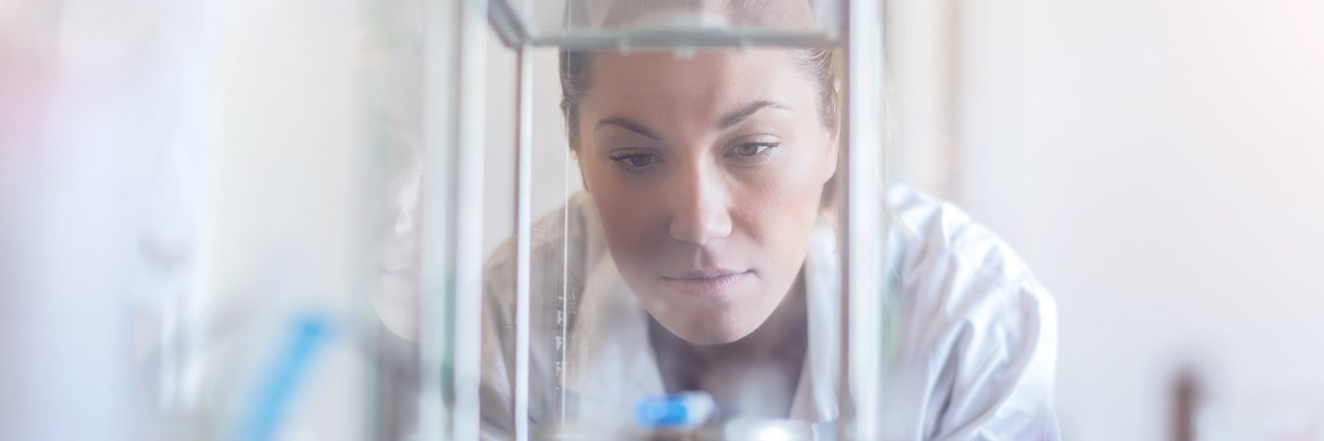
[[[703,172],[683,177],[673,199],[671,237],[695,245],[731,234],[727,191]]]

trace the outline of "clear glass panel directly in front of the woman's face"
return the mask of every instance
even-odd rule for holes
[[[486,60],[482,430],[830,438],[850,400],[831,191],[846,64],[821,13],[834,9],[502,7],[494,30],[516,48],[494,38]],[[552,20],[555,8],[583,16]],[[512,41],[511,17],[561,33]],[[745,38],[779,33],[800,40]],[[532,119],[528,156],[515,154],[519,118]],[[532,164],[527,293],[520,160]]]

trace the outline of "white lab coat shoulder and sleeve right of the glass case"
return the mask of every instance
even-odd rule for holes
[[[1057,440],[1057,315],[1025,262],[949,203],[888,191],[892,415],[915,440]],[[919,397],[919,399],[914,399]],[[919,421],[920,425],[912,425]]]

